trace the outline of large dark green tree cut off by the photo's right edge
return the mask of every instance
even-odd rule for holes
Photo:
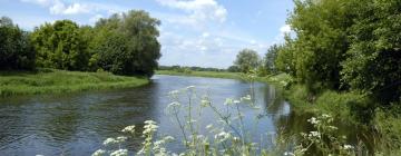
[[[343,81],[383,104],[401,100],[401,2],[354,2]]]

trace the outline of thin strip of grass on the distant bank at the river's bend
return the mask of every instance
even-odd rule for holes
[[[227,78],[227,79],[242,79],[243,76],[239,72],[227,71],[190,71],[178,72],[174,70],[157,70],[156,75],[170,75],[170,76],[193,76],[193,77],[211,77],[211,78]]]

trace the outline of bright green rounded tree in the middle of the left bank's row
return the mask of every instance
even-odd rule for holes
[[[79,27],[70,20],[58,20],[36,28],[32,43],[38,51],[37,65],[65,70],[86,70],[89,53]]]

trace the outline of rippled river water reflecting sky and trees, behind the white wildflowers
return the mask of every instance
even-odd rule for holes
[[[221,110],[225,108],[225,98],[251,92],[250,84],[239,80],[154,76],[150,85],[133,89],[0,99],[0,156],[90,155],[102,147],[107,137],[120,136],[127,125],[141,127],[147,119],[159,124],[158,135],[173,135],[179,140],[182,134],[166,115],[166,107],[170,103],[168,92],[187,86],[195,86],[199,95],[208,92]],[[290,136],[311,128],[306,123],[310,116],[292,111],[274,86],[256,82],[254,90],[255,104],[261,109],[241,107],[245,128],[254,142],[268,148],[276,134]],[[217,116],[211,109],[202,114],[202,118],[194,117],[202,126],[216,124]],[[261,115],[263,118],[256,124],[255,118]],[[355,135],[353,130],[344,131],[351,137]],[[126,146],[138,150],[141,140],[138,137]],[[169,147],[179,150],[180,144],[175,142]]]

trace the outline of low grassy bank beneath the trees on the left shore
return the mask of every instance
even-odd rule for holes
[[[109,72],[80,72],[55,69],[1,71],[0,96],[63,94],[84,90],[128,88],[148,84],[146,78]]]

